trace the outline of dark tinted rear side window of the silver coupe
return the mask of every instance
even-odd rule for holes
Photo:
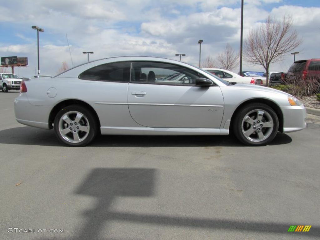
[[[106,63],[85,70],[80,79],[93,81],[126,82],[130,80],[131,62]]]

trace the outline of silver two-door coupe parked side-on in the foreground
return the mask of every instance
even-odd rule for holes
[[[171,76],[170,76],[171,75]],[[170,81],[168,77],[183,76]],[[108,135],[228,135],[260,146],[276,133],[306,127],[295,97],[267,87],[229,83],[176,60],[115,57],[28,79],[14,100],[16,120],[54,129],[70,146]]]

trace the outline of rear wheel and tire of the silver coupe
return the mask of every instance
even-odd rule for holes
[[[76,116],[78,116],[77,113],[80,113],[84,116],[81,118],[79,123],[76,122]],[[71,125],[68,124],[66,121],[62,120],[63,116],[65,115],[67,115],[69,119],[72,121]],[[98,132],[98,124],[97,120],[94,119],[94,114],[92,114],[92,112],[89,109],[80,105],[70,105],[62,108],[55,116],[53,125],[54,132],[58,140],[61,143],[72,147],[83,147],[89,144],[96,137]],[[79,129],[76,129],[79,127],[87,128],[86,130],[88,131],[83,132]],[[70,132],[68,132],[65,135],[62,135],[62,130],[67,130],[70,128],[72,128]],[[73,131],[76,131],[75,134],[73,134]],[[75,140],[75,135],[77,135],[79,141]],[[81,136],[83,136],[83,139],[81,139]],[[74,140],[72,140],[72,138],[74,138]]]

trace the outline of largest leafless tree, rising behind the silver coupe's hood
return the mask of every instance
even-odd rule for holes
[[[292,29],[292,17],[284,15],[282,20],[270,16],[265,23],[251,29],[244,41],[244,59],[250,63],[262,65],[267,74],[269,86],[269,66],[284,59],[284,54],[291,52],[302,42],[296,30]]]

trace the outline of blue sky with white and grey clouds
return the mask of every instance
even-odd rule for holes
[[[179,60],[180,53],[186,54],[182,61],[198,65],[199,39],[202,60],[216,58],[227,43],[240,49],[241,0],[0,0],[0,12],[0,56],[28,57],[27,68],[15,68],[20,77],[37,72],[33,25],[44,28],[40,73],[48,75],[57,74],[63,62],[69,67],[86,62],[82,52],[89,51],[94,52],[89,60],[124,55]],[[284,14],[292,16],[303,40],[294,50],[300,52],[296,60],[320,58],[319,0],[244,0],[244,39],[269,15]],[[292,63],[289,53],[269,71],[286,72]],[[242,69],[264,71],[247,62]]]

